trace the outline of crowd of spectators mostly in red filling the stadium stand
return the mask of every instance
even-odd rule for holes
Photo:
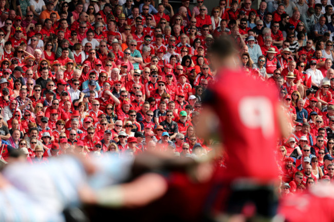
[[[212,140],[198,137],[196,126],[217,79],[208,48],[228,35],[235,63],[277,88],[289,119],[290,135],[275,151],[282,192],[333,181],[331,2],[266,0],[251,8],[245,0],[227,8],[220,0],[211,11],[203,0],[181,4],[0,0],[2,158],[13,149],[32,164],[72,152],[206,155]]]

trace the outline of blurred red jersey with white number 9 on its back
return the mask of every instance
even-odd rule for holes
[[[279,106],[277,90],[242,71],[223,69],[217,76],[217,82],[209,86],[213,94],[207,103],[218,114],[221,127],[229,129],[220,131],[228,155],[222,177],[275,180],[278,169],[273,151],[279,136],[275,117]],[[243,90],[235,91],[237,88]],[[261,121],[263,118],[266,120]]]

